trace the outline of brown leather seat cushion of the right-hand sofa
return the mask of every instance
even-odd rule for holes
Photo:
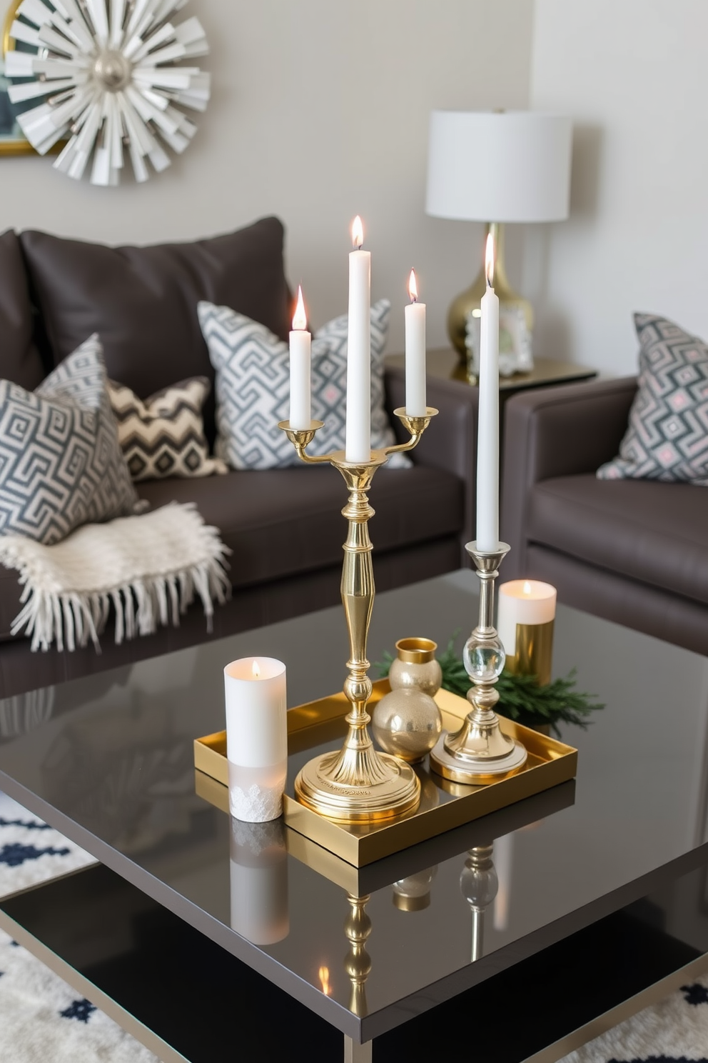
[[[536,484],[530,542],[708,603],[708,491],[592,473]]]

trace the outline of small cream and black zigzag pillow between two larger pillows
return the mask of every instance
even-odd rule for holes
[[[210,387],[206,376],[194,376],[143,400],[108,381],[118,439],[134,482],[228,472],[220,458],[209,457],[204,435],[202,406]]]

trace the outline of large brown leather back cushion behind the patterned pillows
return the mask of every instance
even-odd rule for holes
[[[290,293],[277,218],[212,239],[144,248],[33,231],[20,240],[54,364],[99,333],[108,375],[141,399],[188,376],[213,382],[196,318],[201,299],[227,303],[283,339],[288,335]],[[211,396],[205,427],[213,438]]]

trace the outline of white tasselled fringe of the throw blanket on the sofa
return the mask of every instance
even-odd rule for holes
[[[32,649],[49,649],[54,643],[59,651],[73,651],[93,643],[101,652],[99,636],[105,629],[114,606],[116,642],[120,645],[136,635],[152,635],[158,624],[179,626],[179,617],[194,601],[202,601],[207,629],[212,630],[214,602],[223,605],[231,594],[225,572],[228,547],[221,542],[215,528],[204,528],[210,535],[211,556],[187,569],[167,575],[142,576],[109,591],[96,593],[56,593],[30,587],[27,573],[20,572],[23,590],[22,609],[15,618],[12,634],[24,630],[32,638]],[[3,558],[12,564],[11,558]]]

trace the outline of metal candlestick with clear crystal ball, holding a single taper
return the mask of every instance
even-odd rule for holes
[[[494,626],[494,588],[499,566],[510,551],[500,542],[496,551],[480,551],[468,542],[481,580],[480,619],[465,644],[463,660],[473,687],[467,692],[471,711],[454,735],[443,733],[430,754],[431,766],[453,782],[480,786],[514,775],[526,761],[520,742],[508,738],[499,726],[494,707],[499,701],[495,685],[504,668],[504,647]]]

